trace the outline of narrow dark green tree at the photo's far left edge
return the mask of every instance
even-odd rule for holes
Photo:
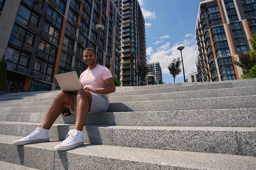
[[[6,91],[6,81],[7,81],[7,63],[9,59],[4,59],[5,56],[0,60],[0,91]]]

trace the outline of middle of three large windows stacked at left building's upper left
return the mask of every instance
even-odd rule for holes
[[[9,43],[22,48],[23,43],[33,46],[35,35],[21,28],[20,26],[14,25],[12,28],[12,33],[9,39]]]

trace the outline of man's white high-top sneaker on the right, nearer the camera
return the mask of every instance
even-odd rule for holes
[[[55,150],[70,150],[84,144],[83,131],[72,129],[67,136],[63,142],[54,147]]]

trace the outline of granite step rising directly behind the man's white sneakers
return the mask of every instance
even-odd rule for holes
[[[0,122],[0,134],[27,136],[36,127],[40,123]],[[73,128],[54,124],[50,139],[62,141]],[[256,127],[87,125],[83,132],[84,142],[92,144],[256,156]]]

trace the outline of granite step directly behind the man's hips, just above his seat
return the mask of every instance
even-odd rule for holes
[[[216,107],[217,109],[256,108],[255,101],[256,95],[120,102],[110,103],[107,112],[209,110]],[[42,102],[47,102],[49,105],[51,103],[51,101]],[[49,105],[6,107],[1,108],[0,113],[44,113],[47,112]]]

